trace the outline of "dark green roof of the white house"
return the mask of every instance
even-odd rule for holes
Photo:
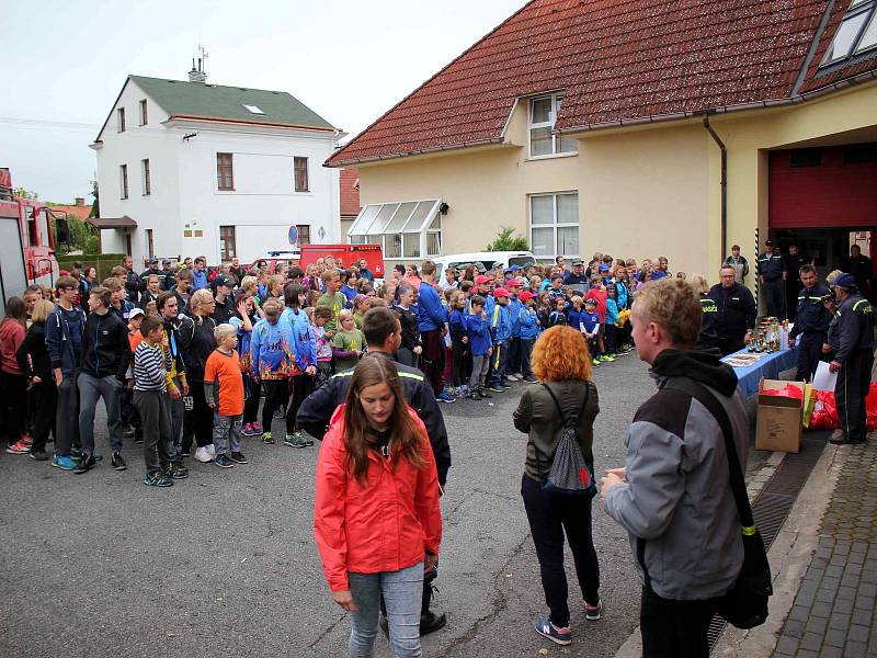
[[[257,124],[333,128],[328,121],[285,91],[143,76],[129,78],[171,116],[204,116]],[[255,106],[262,114],[250,112],[244,105]]]

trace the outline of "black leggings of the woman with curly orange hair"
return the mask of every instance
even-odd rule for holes
[[[591,605],[600,601],[600,564],[591,536],[591,499],[543,491],[542,484],[526,475],[521,481],[521,496],[536,545],[551,623],[563,628],[569,625],[569,591],[563,569],[565,531],[582,595]]]

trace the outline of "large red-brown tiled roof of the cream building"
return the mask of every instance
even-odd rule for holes
[[[828,0],[534,0],[327,164],[499,143],[515,99],[546,91],[565,90],[556,127],[567,132],[782,102],[827,7]]]

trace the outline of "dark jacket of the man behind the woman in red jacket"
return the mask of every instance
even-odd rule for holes
[[[385,352],[373,351],[369,353],[379,354],[386,359],[390,358]],[[409,367],[397,361],[392,363],[399,371],[399,378],[402,381],[405,397],[409,406],[417,411],[423,424],[426,426],[426,434],[430,436],[432,452],[435,455],[435,466],[438,469],[438,484],[444,487],[447,469],[451,468],[451,446],[447,443],[447,430],[442,411],[438,409],[438,402],[435,401],[435,394],[423,373],[418,368]],[[335,408],[348,399],[348,388],[352,375],[352,370],[339,373],[305,398],[296,417],[298,427],[315,439],[322,441]]]

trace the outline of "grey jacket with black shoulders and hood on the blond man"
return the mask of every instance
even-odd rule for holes
[[[706,384],[724,404],[745,473],[749,420],[737,377],[718,358],[667,350],[656,359],[659,390],[637,411],[627,432],[627,484],[610,490],[606,512],[627,530],[636,560],[646,540],[645,564],[654,592],[665,599],[719,597],[743,561],[740,520],[728,478],[718,422],[688,394],[664,388],[668,377]]]

